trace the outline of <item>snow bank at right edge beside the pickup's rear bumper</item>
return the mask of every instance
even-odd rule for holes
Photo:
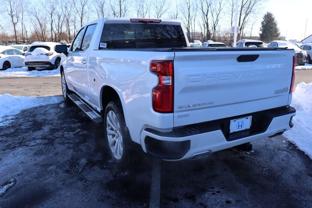
[[[312,82],[297,85],[292,106],[297,111],[292,119],[294,127],[283,135],[312,159]]]

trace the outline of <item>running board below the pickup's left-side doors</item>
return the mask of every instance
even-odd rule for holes
[[[68,97],[83,111],[89,118],[96,123],[97,125],[100,125],[103,123],[102,116],[92,109],[88,104],[85,103],[82,99],[80,99],[76,94],[68,94]]]

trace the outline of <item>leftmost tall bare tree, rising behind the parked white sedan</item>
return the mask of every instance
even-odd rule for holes
[[[16,27],[20,19],[21,8],[22,8],[22,2],[20,0],[6,0],[7,14],[11,17],[16,43],[18,43]]]

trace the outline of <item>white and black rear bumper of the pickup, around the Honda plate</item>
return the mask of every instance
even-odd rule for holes
[[[228,132],[230,120],[245,115],[190,125],[173,129],[172,132],[147,128],[141,133],[141,144],[144,152],[164,160],[195,159],[290,130],[293,125],[291,119],[295,114],[296,110],[292,107],[246,114],[253,116],[251,128],[232,134]]]

